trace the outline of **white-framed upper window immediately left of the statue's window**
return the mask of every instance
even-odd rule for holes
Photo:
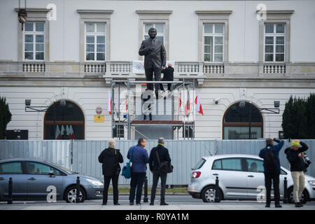
[[[106,22],[85,22],[85,60],[104,61]]]

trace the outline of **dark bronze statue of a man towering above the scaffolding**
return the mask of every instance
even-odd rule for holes
[[[166,64],[166,50],[162,41],[155,38],[156,29],[151,27],[148,31],[150,38],[142,41],[139,49],[139,55],[144,55],[144,71],[146,72],[146,80],[159,81],[161,79],[161,69]],[[153,83],[147,84],[148,90],[153,90]],[[159,83],[155,83],[155,95],[158,98]]]

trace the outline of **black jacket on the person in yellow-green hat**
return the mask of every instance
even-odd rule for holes
[[[300,145],[302,147],[298,148],[297,151],[294,151],[291,147],[286,148],[284,153],[286,153],[286,158],[288,159],[288,162],[290,162],[290,171],[304,171],[304,159],[299,158],[297,155],[299,153],[302,153],[304,151],[307,151],[309,148],[304,142],[300,141]]]

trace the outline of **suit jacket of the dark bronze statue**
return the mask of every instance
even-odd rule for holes
[[[144,55],[144,68],[151,69],[161,69],[162,66],[166,64],[166,50],[162,41],[155,38],[155,43],[153,45],[153,50],[151,50],[152,39],[148,38],[141,43],[139,49],[139,55]]]

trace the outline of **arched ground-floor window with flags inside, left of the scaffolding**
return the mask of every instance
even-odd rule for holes
[[[84,139],[83,112],[73,102],[65,102],[65,105],[55,102],[46,111],[44,139]]]

